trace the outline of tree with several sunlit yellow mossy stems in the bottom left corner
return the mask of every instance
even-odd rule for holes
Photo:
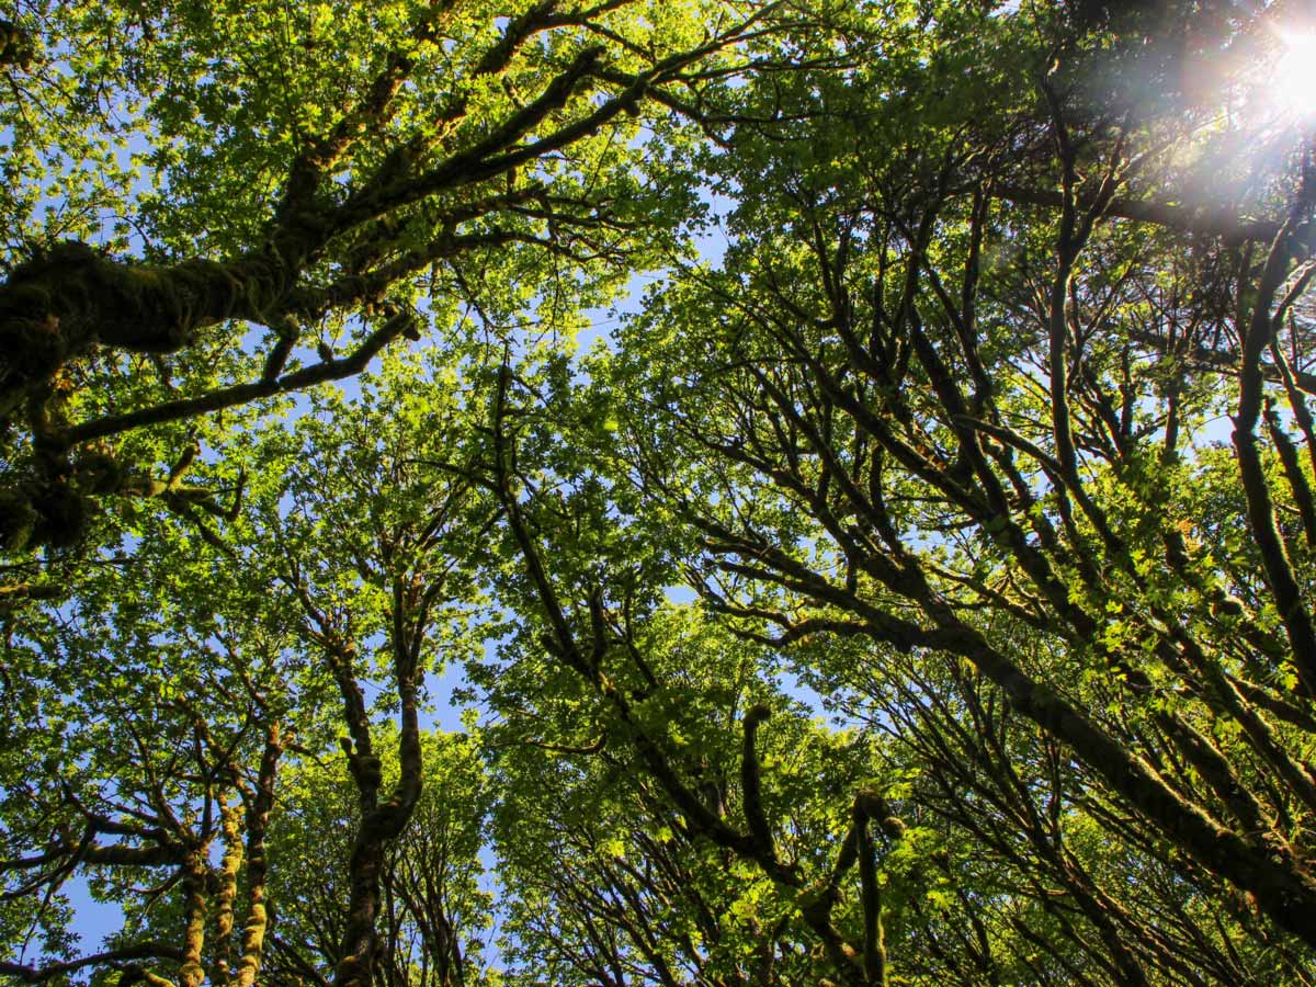
[[[130,588],[120,559],[83,582],[76,604],[8,621],[3,873],[7,898],[25,905],[3,932],[20,953],[0,967],[11,980],[118,971],[139,983],[172,970],[200,984],[209,970],[257,982],[268,819],[297,730],[315,742],[318,724],[301,715],[287,622],[261,609],[259,587],[224,579],[204,555],[183,562],[182,541],[139,561]],[[74,879],[124,913],[100,950],[75,949]],[[16,946],[42,926],[49,962],[24,962]]]

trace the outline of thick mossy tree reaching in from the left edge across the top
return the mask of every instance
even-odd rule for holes
[[[0,108],[0,542],[78,544],[108,496],[229,513],[241,484],[184,482],[197,418],[463,304],[594,296],[691,201],[641,104],[688,112],[771,12],[34,4]]]

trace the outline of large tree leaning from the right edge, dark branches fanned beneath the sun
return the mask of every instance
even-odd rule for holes
[[[974,43],[933,42],[929,75]],[[720,157],[742,190],[722,268],[650,297],[592,372],[644,395],[615,409],[619,455],[700,533],[716,608],[783,646],[857,636],[883,670],[969,662],[1158,857],[1311,946],[1309,465],[1286,430],[1307,417],[1311,187],[1275,176],[1269,245],[1125,221],[1116,196],[1195,146],[1098,113],[1076,53],[1040,54],[1061,70],[1017,108],[966,96],[1016,114],[1008,153],[999,116],[948,126],[942,93],[891,99],[874,66],[822,96],[862,126]],[[869,134],[908,126],[878,157]],[[1054,209],[996,191],[1020,170]],[[1232,396],[1179,355],[1212,338],[1238,341]],[[1221,401],[1232,466],[1196,451]]]

